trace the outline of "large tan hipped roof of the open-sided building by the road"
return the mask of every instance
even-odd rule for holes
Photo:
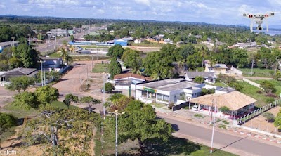
[[[209,106],[214,106],[216,103],[217,108],[226,106],[230,110],[239,110],[246,105],[255,103],[256,99],[246,96],[244,93],[240,93],[239,91],[232,91],[230,93],[214,93],[192,98],[190,99],[190,102]]]

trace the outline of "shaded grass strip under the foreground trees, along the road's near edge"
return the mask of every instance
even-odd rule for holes
[[[105,142],[103,143],[104,155],[115,155],[115,142],[107,140],[108,136],[104,136]],[[95,136],[95,155],[101,155],[101,143],[98,140],[100,138],[100,132],[96,132]],[[192,143],[185,138],[176,138],[171,136],[167,142],[150,139],[145,141],[145,153],[144,155],[173,155],[173,156],[202,156],[210,155],[210,148],[205,145],[200,145],[198,143]],[[127,141],[126,143],[119,143],[118,145],[118,155],[139,155],[138,141]],[[214,149],[214,156],[235,156],[230,152],[224,152],[222,150]]]

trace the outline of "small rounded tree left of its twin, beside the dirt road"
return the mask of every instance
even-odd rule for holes
[[[22,108],[25,110],[30,110],[31,108],[37,109],[39,106],[39,101],[37,100],[37,96],[30,91],[24,91],[22,93],[16,94],[14,97],[14,101],[12,105],[17,108]]]

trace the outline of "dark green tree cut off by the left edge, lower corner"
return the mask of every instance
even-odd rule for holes
[[[8,131],[12,126],[16,126],[17,124],[17,118],[14,117],[13,115],[0,112],[0,136]],[[1,138],[0,137],[0,150],[1,148]]]

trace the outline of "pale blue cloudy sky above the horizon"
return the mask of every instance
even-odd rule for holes
[[[108,18],[249,25],[243,13],[270,13],[281,25],[281,0],[1,0],[0,15]],[[280,15],[279,15],[280,13]]]

